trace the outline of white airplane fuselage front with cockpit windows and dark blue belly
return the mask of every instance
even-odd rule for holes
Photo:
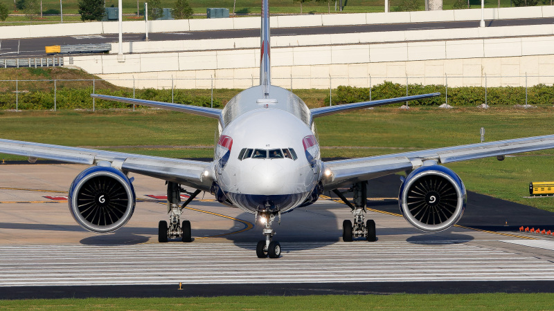
[[[293,93],[249,88],[226,105],[216,142],[217,199],[249,213],[291,211],[318,196],[321,158],[307,106]],[[315,189],[315,193],[314,193]]]

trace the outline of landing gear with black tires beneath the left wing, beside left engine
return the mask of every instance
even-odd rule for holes
[[[158,242],[166,243],[168,239],[180,238],[183,242],[192,242],[193,237],[190,230],[190,221],[183,220],[179,223],[179,217],[183,213],[183,209],[190,203],[201,191],[197,190],[190,194],[188,199],[181,203],[181,191],[186,192],[181,186],[175,182],[168,182],[168,214],[169,225],[166,220],[161,220],[158,223]],[[188,193],[188,192],[187,192]]]

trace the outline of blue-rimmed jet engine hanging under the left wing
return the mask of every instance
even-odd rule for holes
[[[123,227],[133,215],[135,194],[124,173],[113,167],[89,167],[69,187],[69,210],[75,221],[92,232]]]

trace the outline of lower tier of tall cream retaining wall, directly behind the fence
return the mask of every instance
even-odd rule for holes
[[[448,86],[525,86],[554,84],[554,55],[467,58],[366,64],[276,66],[271,84],[283,88],[368,87],[384,81]],[[191,69],[98,75],[118,86],[136,88],[249,88],[259,83],[259,68]],[[447,75],[447,78],[445,77]],[[540,77],[537,77],[540,76]]]

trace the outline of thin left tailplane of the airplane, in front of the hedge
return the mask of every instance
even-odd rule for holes
[[[91,97],[98,98],[99,100],[113,100],[115,102],[124,102],[126,104],[135,104],[135,105],[141,105],[141,106],[149,106],[154,108],[179,111],[184,113],[192,113],[193,115],[213,117],[214,119],[219,119],[222,111],[221,109],[215,109],[210,107],[185,105],[185,104],[171,104],[168,102],[156,102],[154,100],[137,100],[135,98],[117,97],[117,96],[100,95],[100,94],[91,94]]]

